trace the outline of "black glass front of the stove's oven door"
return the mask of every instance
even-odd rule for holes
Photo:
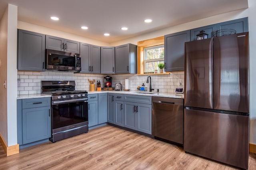
[[[52,105],[52,129],[88,121],[88,103],[74,102]]]

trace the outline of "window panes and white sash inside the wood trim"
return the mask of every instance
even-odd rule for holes
[[[154,72],[164,63],[164,45],[144,48],[144,72]]]

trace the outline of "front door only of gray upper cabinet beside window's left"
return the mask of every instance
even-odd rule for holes
[[[116,73],[129,73],[130,67],[130,44],[115,47]]]

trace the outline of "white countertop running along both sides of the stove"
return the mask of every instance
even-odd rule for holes
[[[98,93],[118,93],[118,94],[126,94],[126,95],[143,95],[143,96],[152,96],[152,97],[168,97],[168,98],[177,98],[184,99],[184,94],[181,93],[138,93],[137,91],[88,91],[88,94],[98,94]],[[29,95],[18,95],[18,99],[34,99],[34,98],[42,98],[42,97],[52,97],[48,94],[29,94]]]

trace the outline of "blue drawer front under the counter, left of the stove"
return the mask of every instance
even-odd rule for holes
[[[23,99],[22,109],[51,106],[51,98]]]

